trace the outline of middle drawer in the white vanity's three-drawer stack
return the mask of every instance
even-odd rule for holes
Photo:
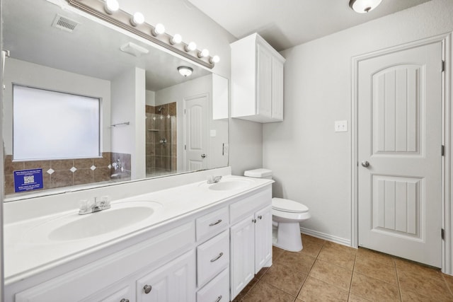
[[[197,286],[229,266],[229,230],[197,247]]]

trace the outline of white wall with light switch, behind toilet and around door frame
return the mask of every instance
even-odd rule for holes
[[[304,228],[343,243],[351,238],[351,57],[453,30],[453,1],[406,11],[282,52],[285,120],[263,126],[263,165],[274,172],[276,197],[309,207]]]

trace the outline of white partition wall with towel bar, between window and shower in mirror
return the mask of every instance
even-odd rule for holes
[[[131,178],[146,175],[145,165],[145,71],[132,68],[112,81],[112,152],[130,153]]]

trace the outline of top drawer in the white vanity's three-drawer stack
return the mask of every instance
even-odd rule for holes
[[[211,238],[228,228],[228,207],[200,217],[195,222],[197,241]]]

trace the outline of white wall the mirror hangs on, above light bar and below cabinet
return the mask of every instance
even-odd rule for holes
[[[220,62],[214,71],[231,79],[231,50],[229,43],[236,38],[219,24],[199,11],[187,0],[119,0],[123,10],[134,13],[141,11],[151,25],[163,23],[166,32],[179,33],[184,42],[195,41],[197,48],[207,48],[217,54]],[[244,170],[262,165],[263,127],[255,122],[229,120],[229,165],[232,173],[242,175]]]

